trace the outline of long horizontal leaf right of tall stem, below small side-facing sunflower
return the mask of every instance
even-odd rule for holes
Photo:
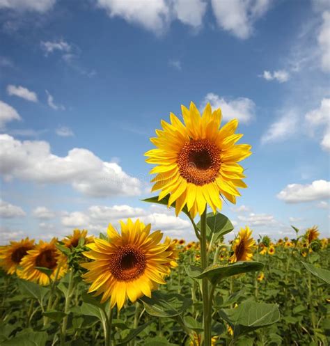
[[[228,278],[229,276],[242,274],[242,273],[248,273],[248,272],[256,272],[258,270],[261,270],[264,267],[263,263],[261,262],[235,262],[232,265],[211,265],[210,267],[207,267],[204,272],[196,276],[196,278],[208,278],[208,280],[213,284],[216,285],[221,281],[223,278]]]

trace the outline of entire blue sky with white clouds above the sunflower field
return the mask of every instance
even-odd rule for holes
[[[1,241],[127,217],[194,239],[140,201],[150,136],[191,101],[253,146],[249,188],[222,210],[236,233],[329,236],[329,3],[146,2],[0,0]]]

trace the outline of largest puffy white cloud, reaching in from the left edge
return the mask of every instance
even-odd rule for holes
[[[140,194],[141,183],[114,162],[103,162],[90,150],[73,148],[65,157],[52,154],[45,141],[18,141],[0,135],[0,174],[37,183],[68,183],[87,196]]]

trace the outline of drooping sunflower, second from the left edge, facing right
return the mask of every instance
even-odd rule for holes
[[[29,250],[21,261],[22,274],[19,276],[24,280],[34,281],[40,285],[48,285],[50,280],[47,274],[36,267],[51,269],[51,280],[64,276],[67,270],[66,257],[56,248],[56,242],[56,238],[53,238],[49,243],[40,240],[34,249]]]

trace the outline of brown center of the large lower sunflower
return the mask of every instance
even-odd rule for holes
[[[146,269],[146,254],[134,245],[125,245],[112,255],[111,274],[118,281],[133,281]]]

